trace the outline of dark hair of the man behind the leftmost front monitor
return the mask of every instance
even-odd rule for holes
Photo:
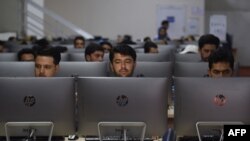
[[[45,49],[41,49],[36,53],[36,57],[37,56],[47,56],[47,57],[52,57],[53,58],[53,62],[55,65],[59,65],[60,60],[61,60],[61,54],[60,52],[53,47],[50,48],[45,48]]]

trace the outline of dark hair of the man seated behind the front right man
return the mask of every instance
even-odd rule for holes
[[[205,44],[215,45],[216,48],[220,45],[220,39],[213,34],[202,35],[198,41],[199,49],[202,49]]]

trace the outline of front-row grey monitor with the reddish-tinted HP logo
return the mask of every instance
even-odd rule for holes
[[[174,129],[197,136],[197,122],[250,123],[250,78],[175,77]]]

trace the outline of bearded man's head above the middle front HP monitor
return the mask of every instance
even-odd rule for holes
[[[128,45],[119,45],[109,54],[110,68],[115,76],[131,77],[136,66],[136,52]]]

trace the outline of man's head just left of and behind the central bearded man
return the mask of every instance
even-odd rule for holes
[[[90,43],[85,49],[85,60],[88,62],[102,62],[104,49],[101,45]]]

